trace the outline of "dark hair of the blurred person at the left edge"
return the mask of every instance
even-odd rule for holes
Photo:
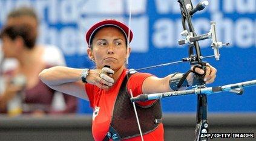
[[[0,33],[0,38],[2,39],[6,36],[10,37],[11,40],[15,40],[18,37],[21,37],[28,49],[34,48],[36,43],[36,33],[34,33],[32,27],[27,24],[9,25],[4,27]]]

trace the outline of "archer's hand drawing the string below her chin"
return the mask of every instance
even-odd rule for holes
[[[86,80],[90,84],[94,84],[100,89],[109,89],[114,84],[114,79],[111,78],[114,70],[103,67],[102,69],[91,69]]]

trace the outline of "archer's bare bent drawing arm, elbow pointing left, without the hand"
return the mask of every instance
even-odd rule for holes
[[[73,69],[70,67],[55,66],[44,69],[39,74],[39,78],[51,89],[62,93],[88,99],[85,92],[85,84],[81,81],[83,69]]]

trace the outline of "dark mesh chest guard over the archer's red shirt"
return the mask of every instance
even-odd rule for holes
[[[125,77],[114,104],[110,129],[105,139],[123,140],[140,136],[133,103],[130,101],[130,95],[126,88],[127,81],[128,77]],[[159,100],[147,107],[136,105],[136,109],[142,134],[156,130],[159,123],[162,122],[162,108]]]

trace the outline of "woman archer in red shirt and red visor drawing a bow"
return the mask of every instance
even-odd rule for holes
[[[130,34],[130,38],[128,35]],[[117,20],[95,23],[85,37],[88,57],[96,69],[51,67],[39,77],[49,87],[87,99],[93,111],[92,133],[94,140],[140,140],[131,95],[183,90],[192,86],[194,72],[204,74],[204,81],[212,83],[217,70],[208,64],[205,71],[191,67],[185,81],[177,86],[183,74],[170,74],[157,78],[152,74],[128,72],[126,61],[130,55],[129,43],[133,33]],[[179,82],[179,81],[178,81]],[[159,99],[136,102],[144,140],[164,140],[162,108]]]

